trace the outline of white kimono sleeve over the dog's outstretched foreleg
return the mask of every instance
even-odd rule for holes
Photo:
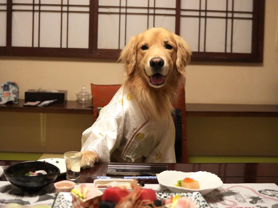
[[[110,155],[120,145],[123,135],[124,109],[122,88],[114,95],[98,116],[96,122],[82,134],[81,151],[89,150],[100,162],[110,162]]]

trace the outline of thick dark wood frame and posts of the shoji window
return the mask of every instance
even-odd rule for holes
[[[207,0],[206,0],[207,1]],[[12,47],[12,0],[7,0],[6,47],[0,47],[0,55],[8,56],[45,56],[45,57],[82,57],[111,58],[119,56],[119,49],[98,49],[98,0],[90,0],[89,10],[89,48],[46,48]],[[62,6],[62,4],[61,4]],[[265,0],[253,0],[253,25],[251,53],[213,53],[193,52],[193,61],[222,62],[263,62],[264,45],[264,7]],[[128,8],[127,6],[121,8]],[[153,8],[152,8],[153,9]],[[206,13],[206,10],[204,10]],[[216,12],[216,11],[215,11]],[[176,0],[175,33],[180,34],[180,0]],[[236,12],[232,12],[232,15]],[[227,19],[226,15],[226,19]],[[34,24],[34,23],[33,23]]]

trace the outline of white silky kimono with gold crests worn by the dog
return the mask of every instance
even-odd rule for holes
[[[101,162],[175,163],[173,120],[146,120],[136,99],[125,91],[121,87],[83,132],[81,151],[96,153]]]

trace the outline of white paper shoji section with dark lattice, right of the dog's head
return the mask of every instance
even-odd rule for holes
[[[180,16],[193,51],[251,53],[253,0],[181,0]]]

